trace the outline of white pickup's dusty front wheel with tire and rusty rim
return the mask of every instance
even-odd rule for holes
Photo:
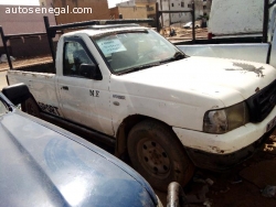
[[[130,130],[128,154],[134,168],[162,192],[167,192],[171,182],[184,186],[194,172],[171,128],[156,120],[145,120]]]

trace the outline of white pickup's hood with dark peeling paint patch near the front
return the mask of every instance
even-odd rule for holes
[[[219,107],[227,107],[247,99],[275,77],[275,68],[266,64],[189,57],[115,78],[119,83],[116,87],[121,87],[118,91],[125,89],[129,95],[162,97],[191,106],[213,99],[220,100]],[[183,98],[183,94],[192,94],[193,98]]]

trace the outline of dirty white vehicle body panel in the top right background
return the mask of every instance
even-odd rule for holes
[[[263,35],[264,0],[213,0],[209,37],[250,37]]]

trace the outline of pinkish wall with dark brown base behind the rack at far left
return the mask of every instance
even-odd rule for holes
[[[45,13],[17,13],[18,6],[0,6],[0,25],[3,28],[4,34],[19,33],[42,33],[45,32],[43,17],[47,15],[51,25],[55,25],[55,18],[53,14]],[[32,8],[35,10],[40,7],[21,6],[28,10]],[[7,13],[10,9],[11,13]],[[13,11],[13,13],[12,13]],[[35,37],[13,39],[8,41],[11,55],[15,57],[21,56],[38,56],[50,54],[47,39],[45,35]],[[0,54],[4,52],[2,40],[0,39]]]

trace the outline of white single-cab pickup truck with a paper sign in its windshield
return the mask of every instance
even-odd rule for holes
[[[33,95],[23,110],[114,140],[162,190],[184,185],[194,166],[225,170],[256,151],[276,123],[275,77],[267,64],[189,57],[135,24],[63,34],[55,68],[8,70]]]

